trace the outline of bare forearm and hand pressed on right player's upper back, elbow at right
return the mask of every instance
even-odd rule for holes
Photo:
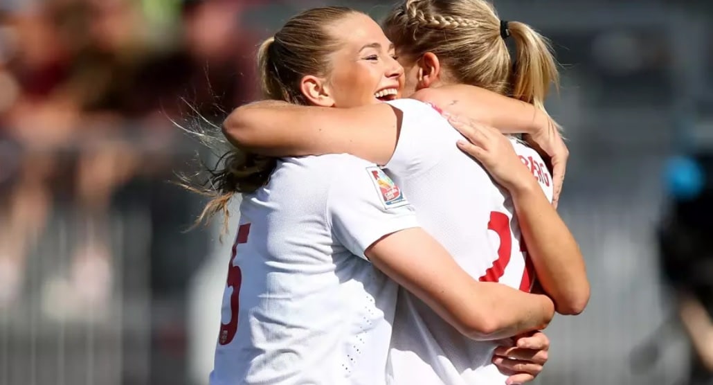
[[[584,258],[565,222],[542,188],[515,154],[508,138],[477,123],[452,122],[471,140],[458,146],[481,161],[513,196],[520,230],[537,272],[538,282],[560,314],[583,312],[590,296]]]

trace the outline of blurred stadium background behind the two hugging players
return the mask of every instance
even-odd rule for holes
[[[170,181],[200,148],[172,120],[257,98],[257,44],[323,4],[391,1],[0,0],[0,385],[207,384],[230,245],[220,221],[185,232],[204,201]],[[713,4],[495,4],[563,63],[560,212],[593,289],[537,383],[710,384],[657,234],[701,180],[687,154],[713,152]]]

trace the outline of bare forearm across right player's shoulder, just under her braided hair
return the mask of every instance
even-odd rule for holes
[[[411,97],[434,104],[452,116],[498,128],[502,133],[535,133],[553,124],[547,114],[530,103],[475,86],[424,88]]]

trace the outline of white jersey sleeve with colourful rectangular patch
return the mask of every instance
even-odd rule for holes
[[[359,158],[345,162],[329,187],[327,220],[337,240],[364,258],[385,235],[419,227],[404,193],[381,168]]]

